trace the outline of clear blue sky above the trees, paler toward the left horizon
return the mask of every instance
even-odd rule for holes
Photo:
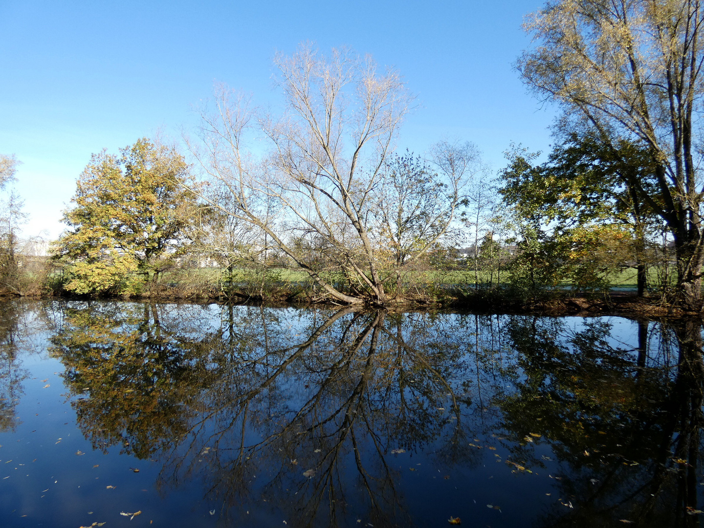
[[[90,154],[177,137],[213,82],[272,99],[272,56],[305,41],[393,65],[417,94],[398,145],[468,139],[495,169],[510,142],[546,150],[541,109],[512,69],[536,0],[0,0],[0,152],[23,165],[26,234],[58,236]]]

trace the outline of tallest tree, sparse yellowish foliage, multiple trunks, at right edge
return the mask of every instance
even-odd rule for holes
[[[679,301],[696,309],[703,17],[699,0],[549,1],[529,17],[536,46],[517,63],[541,99],[563,108],[563,127],[581,121],[613,151],[624,139],[647,150],[656,190],[637,178],[634,192],[672,233]]]

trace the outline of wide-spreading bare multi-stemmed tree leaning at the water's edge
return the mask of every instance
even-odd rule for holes
[[[325,58],[303,47],[275,62],[281,117],[257,115],[225,88],[216,94],[215,112],[202,112],[202,141],[190,142],[191,151],[232,196],[227,206],[210,204],[266,235],[290,268],[335,301],[388,303],[384,282],[396,269],[386,267],[388,230],[375,213],[386,161],[413,98],[396,71],[377,73],[369,57],[350,52]],[[254,156],[246,146],[255,125],[268,139],[269,156]],[[451,227],[470,165],[450,158],[439,165],[433,178],[445,187],[437,194],[434,235],[408,258],[424,254]]]

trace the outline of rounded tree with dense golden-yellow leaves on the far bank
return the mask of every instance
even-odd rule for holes
[[[196,206],[182,185],[187,177],[179,153],[146,138],[120,156],[94,154],[63,215],[69,230],[54,246],[54,258],[68,265],[65,289],[127,293],[147,277],[158,281]]]

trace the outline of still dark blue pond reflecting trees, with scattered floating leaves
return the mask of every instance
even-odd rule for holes
[[[5,301],[0,524],[698,526],[701,333]]]

